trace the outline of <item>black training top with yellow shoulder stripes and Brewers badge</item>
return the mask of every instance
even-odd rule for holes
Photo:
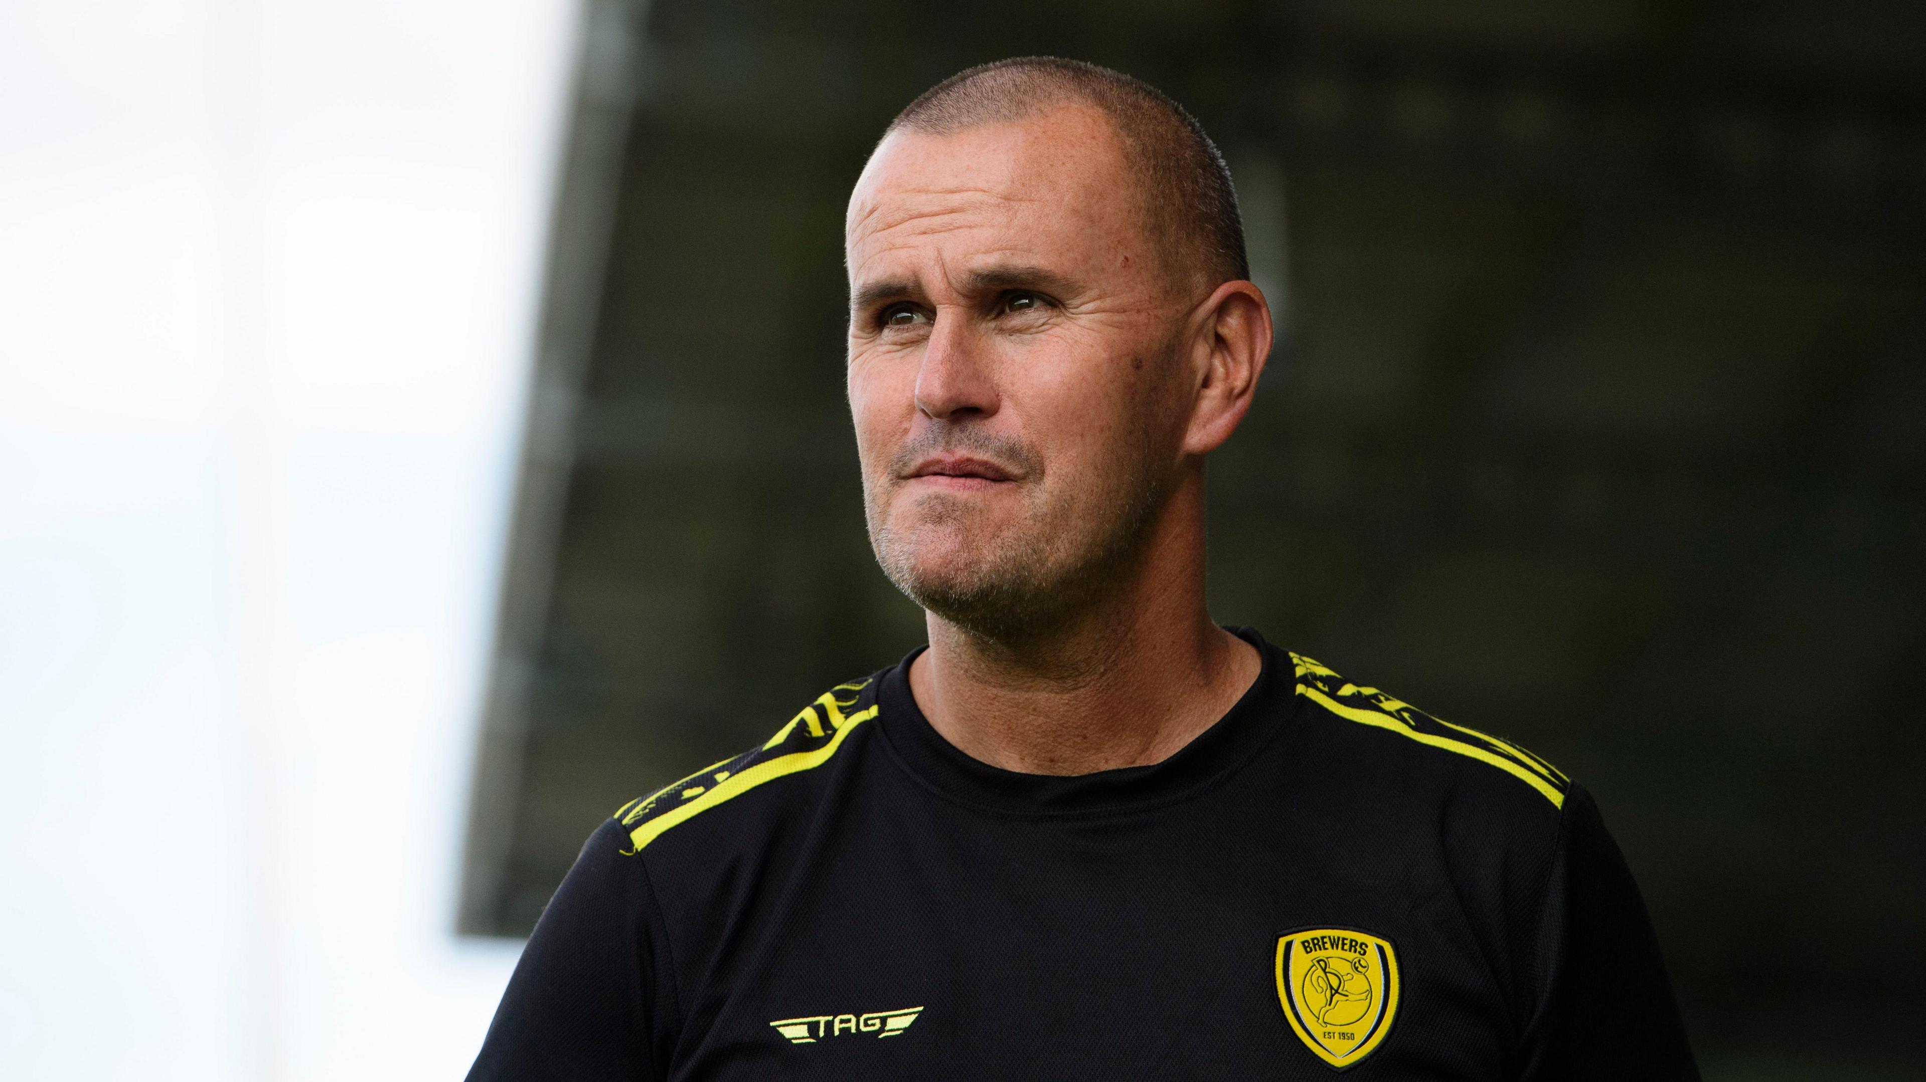
[[[468,1078],[1699,1076],[1583,789],[1240,633],[1154,766],[978,762],[905,658],[624,805]]]

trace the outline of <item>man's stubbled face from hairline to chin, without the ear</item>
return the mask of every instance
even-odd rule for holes
[[[1173,285],[1102,114],[898,131],[849,200],[871,543],[924,608],[1019,631],[1100,589],[1175,483]]]

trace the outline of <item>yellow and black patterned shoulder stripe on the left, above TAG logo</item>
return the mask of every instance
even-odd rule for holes
[[[803,707],[763,747],[724,759],[722,762],[711,762],[680,782],[670,782],[643,799],[618,807],[614,818],[630,828],[630,849],[624,853],[641,853],[643,845],[661,837],[668,828],[684,824],[757,786],[828,762],[836,755],[836,749],[842,747],[846,735],[876,716],[876,707],[844,714],[844,708],[853,707],[857,695],[867,685],[867,680],[861,683],[838,683],[815,703]]]

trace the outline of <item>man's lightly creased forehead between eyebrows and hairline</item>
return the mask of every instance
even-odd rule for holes
[[[951,135],[899,129],[849,196],[849,273],[917,256],[1055,264],[1140,246],[1127,179],[1115,129],[1086,106]]]

